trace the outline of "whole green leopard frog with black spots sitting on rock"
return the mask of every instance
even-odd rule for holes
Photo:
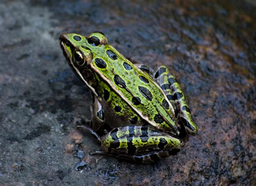
[[[101,150],[93,154],[156,162],[181,150],[181,131],[197,134],[184,93],[167,67],[154,71],[131,62],[102,32],[63,33],[59,44],[92,94],[91,119],[83,128],[100,142]]]

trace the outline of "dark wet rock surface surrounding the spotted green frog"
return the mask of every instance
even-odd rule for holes
[[[0,2],[1,184],[255,185],[254,1]],[[167,66],[199,131],[176,156],[136,164],[89,155],[91,96],[58,44],[101,31],[132,61]],[[80,143],[87,166],[73,169]],[[96,160],[98,163],[96,163]]]

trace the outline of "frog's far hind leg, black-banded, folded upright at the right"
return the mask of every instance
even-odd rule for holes
[[[183,91],[175,77],[169,74],[169,70],[165,66],[160,66],[154,75],[154,78],[174,106],[175,117],[185,126],[188,133],[196,134],[197,125],[191,117],[190,109],[186,103]]]

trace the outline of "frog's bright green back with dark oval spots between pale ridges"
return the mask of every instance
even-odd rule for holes
[[[147,123],[167,131],[176,131],[172,105],[152,77],[125,59],[112,46],[97,47],[97,50],[93,50],[91,68],[109,85],[110,91],[115,92],[126,103],[118,105],[115,102],[116,106],[120,109],[129,106]]]

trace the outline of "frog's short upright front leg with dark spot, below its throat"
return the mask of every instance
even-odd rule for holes
[[[94,131],[98,131],[99,128],[104,124],[104,110],[102,107],[102,104],[99,102],[99,99],[97,97],[94,97],[94,102],[91,109],[91,115],[92,115],[92,129]]]

